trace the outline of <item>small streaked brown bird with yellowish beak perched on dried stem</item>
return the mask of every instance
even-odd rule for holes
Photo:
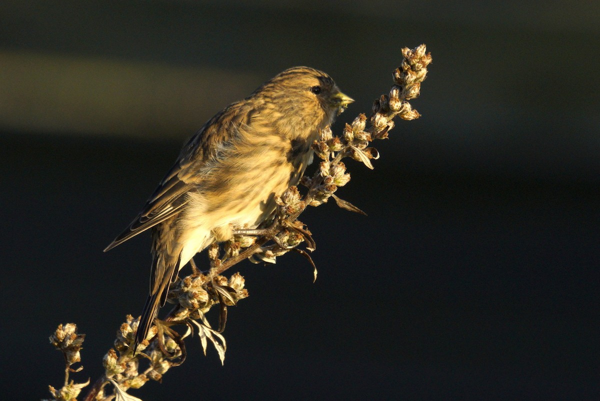
[[[187,142],[145,207],[104,249],[152,228],[150,294],[134,352],[164,305],[169,285],[196,253],[256,228],[276,194],[298,184],[311,144],[352,102],[322,71],[294,67],[217,113]]]

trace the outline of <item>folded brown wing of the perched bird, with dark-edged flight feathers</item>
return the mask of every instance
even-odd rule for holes
[[[188,140],[178,160],[146,201],[142,211],[104,252],[181,212],[188,202],[186,194],[195,190],[202,182],[202,167],[206,161],[220,143],[231,139],[234,131],[232,127],[239,127],[250,120],[251,110],[244,109],[241,103],[230,105],[206,122]]]

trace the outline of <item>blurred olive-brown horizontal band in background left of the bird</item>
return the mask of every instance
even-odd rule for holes
[[[0,129],[185,137],[265,79],[240,71],[0,52]]]

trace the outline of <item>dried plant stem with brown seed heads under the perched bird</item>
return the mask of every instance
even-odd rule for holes
[[[118,401],[139,400],[126,391],[142,387],[149,380],[161,381],[167,370],[183,363],[186,357],[184,340],[194,331],[200,338],[205,354],[210,342],[223,363],[226,342],[221,332],[226,323],[227,306],[233,306],[248,297],[248,291],[244,288],[244,278],[239,273],[233,274],[229,279],[221,274],[244,259],[255,263],[275,263],[277,256],[293,251],[308,259],[316,279],[316,267],[307,252],[314,250],[314,240],[298,217],[309,205],[319,206],[327,202],[329,197],[334,197],[341,208],[364,214],[334,193],[350,180],[343,158],[351,157],[373,169],[371,160],[379,158],[379,152],[370,147],[370,143],[375,139],[386,139],[389,131],[394,128],[396,117],[410,120],[420,116],[409,100],[419,95],[421,83],[427,76],[427,66],[431,63],[431,55],[426,53],[424,44],[412,50],[404,48],[402,54],[402,64],[393,74],[394,85],[389,94],[382,95],[374,102],[369,118],[365,114],[358,115],[352,124],[346,124],[340,136],[334,136],[329,127],[320,132],[312,149],[321,161],[312,176],[301,179],[301,184],[307,188],[304,196],[295,186],[280,196],[275,196],[277,210],[272,220],[255,231],[263,235],[235,235],[230,241],[209,247],[211,268],[208,272],[200,272],[192,263],[193,273],[176,280],[167,296],[167,301],[175,304],[175,307],[163,321],[155,319],[148,336],[139,344],[140,352],[137,354],[133,354],[133,344],[139,318],[127,316],[117,332],[114,348],[104,355],[105,373],[89,389],[85,401],[109,401],[115,397]],[[234,229],[244,232],[244,228]],[[298,248],[303,242],[307,244],[306,250]],[[218,306],[221,312],[217,330],[211,327],[206,318],[206,313],[214,306]],[[175,327],[185,330],[184,333],[179,333]],[[67,364],[64,386],[59,390],[50,387],[53,400],[76,400],[81,389],[89,384],[89,380],[82,384],[68,381],[70,372],[82,369],[80,367],[73,370],[71,364],[80,361],[79,351],[84,337],[85,334],[76,333],[74,324],[64,327],[59,325],[50,337],[50,342],[64,353]],[[140,367],[140,362],[147,366]],[[107,387],[111,390],[107,391]]]

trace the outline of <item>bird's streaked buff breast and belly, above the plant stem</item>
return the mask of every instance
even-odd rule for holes
[[[224,226],[256,228],[275,210],[275,195],[298,184],[311,160],[311,142],[275,135],[259,139],[235,143],[211,166],[190,195],[190,225],[215,232]]]

